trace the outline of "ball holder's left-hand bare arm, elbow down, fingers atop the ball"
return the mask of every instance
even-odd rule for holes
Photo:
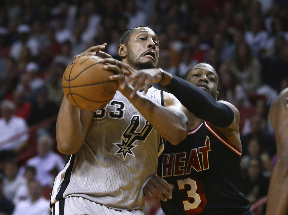
[[[83,55],[95,55],[106,47],[106,43],[90,47],[85,52],[76,55],[74,60]],[[111,55],[101,52],[104,57]],[[84,143],[85,136],[93,119],[94,111],[83,111],[76,108],[64,96],[57,117],[56,140],[59,152],[75,154]]]

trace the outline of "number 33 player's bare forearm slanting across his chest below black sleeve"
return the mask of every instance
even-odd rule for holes
[[[128,87],[122,94],[129,99],[140,114],[153,125],[154,129],[162,137],[172,144],[178,144],[187,136],[188,120],[184,114],[180,111],[173,112],[160,104],[154,103],[139,91],[133,98],[130,98],[132,90],[131,87]]]

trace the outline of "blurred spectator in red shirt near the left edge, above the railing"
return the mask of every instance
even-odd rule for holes
[[[15,104],[15,116],[22,117],[27,120],[30,115],[31,104],[30,102],[26,101],[24,92],[15,89],[13,91],[13,102]]]

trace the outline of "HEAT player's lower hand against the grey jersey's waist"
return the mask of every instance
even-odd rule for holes
[[[174,186],[159,176],[152,177],[143,189],[144,195],[151,199],[167,201],[172,198]]]

